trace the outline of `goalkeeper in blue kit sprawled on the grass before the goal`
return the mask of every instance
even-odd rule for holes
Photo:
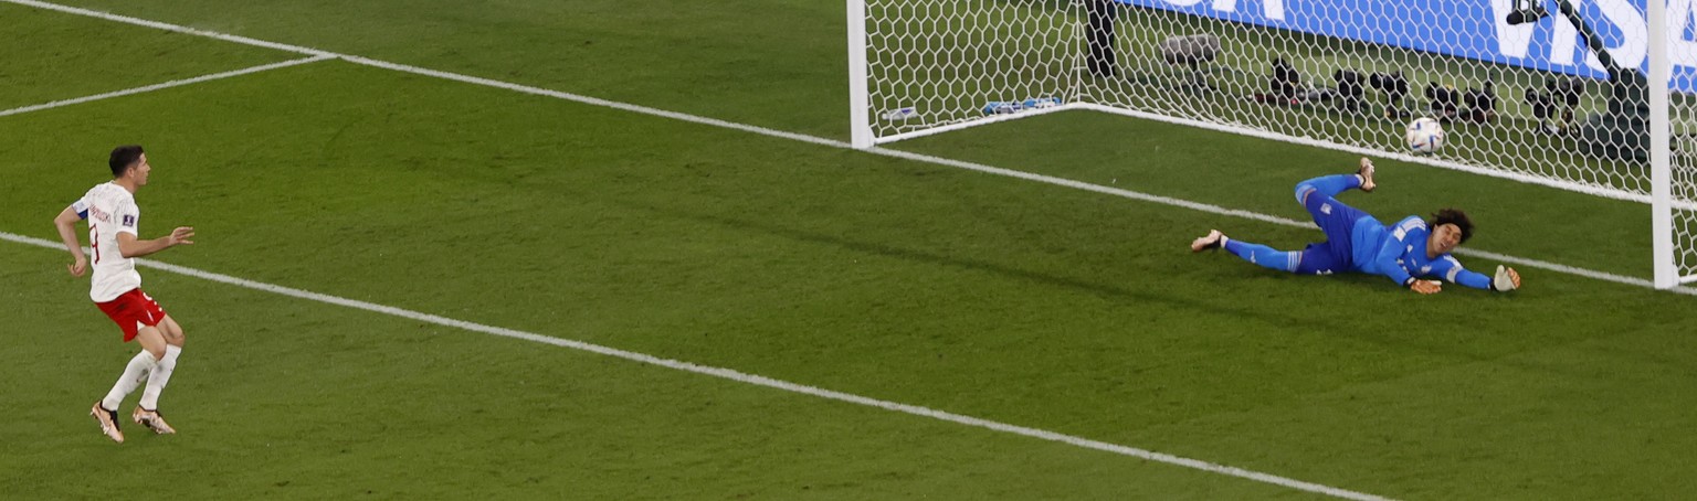
[[[1320,176],[1297,183],[1297,201],[1313,215],[1325,232],[1325,242],[1308,244],[1302,250],[1276,250],[1268,245],[1230,239],[1220,230],[1190,244],[1191,252],[1225,247],[1244,261],[1297,274],[1368,273],[1386,276],[1397,284],[1422,295],[1436,295],[1442,283],[1425,278],[1442,278],[1475,289],[1512,291],[1521,288],[1521,274],[1512,267],[1497,266],[1495,276],[1485,276],[1461,267],[1449,256],[1456,245],[1473,237],[1468,215],[1444,208],[1432,220],[1407,217],[1395,225],[1383,225],[1371,215],[1337,201],[1349,188],[1373,191],[1373,161],[1363,157],[1354,174]]]

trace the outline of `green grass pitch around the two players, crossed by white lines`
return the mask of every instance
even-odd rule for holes
[[[840,3],[68,2],[830,139]],[[0,3],[0,108],[300,58]],[[15,47],[15,49],[12,49]],[[319,61],[0,117],[0,232],[144,144],[158,261],[1397,499],[1697,493],[1697,310],[1522,269],[1415,296],[1186,244],[1317,230]],[[1305,218],[1349,154],[1083,112],[901,142]],[[1383,218],[1649,274],[1648,206],[1381,162]],[[15,499],[1313,499],[1319,494],[143,269],[180,435],[85,415],[136,350],[0,242]],[[1465,259],[1488,269],[1488,259]],[[134,396],[122,411],[129,411]]]

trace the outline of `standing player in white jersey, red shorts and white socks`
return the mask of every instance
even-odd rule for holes
[[[176,433],[171,425],[160,416],[160,391],[171,381],[176,369],[176,355],[183,350],[183,328],[176,325],[160,303],[141,291],[141,274],[136,273],[136,257],[160,252],[182,244],[193,244],[195,228],[180,227],[170,235],[139,240],[141,210],[136,206],[136,190],[148,184],[153,166],[141,146],[119,146],[109,161],[112,181],[90,188],[81,200],[71,203],[53,225],[59,228],[64,249],[71,250],[68,267],[73,276],[83,276],[93,267],[93,284],[88,298],[105,311],[117,327],[124,330],[124,342],[137,340],[141,352],[124,367],[124,376],[117,377],[112,391],[95,401],[90,413],[100,423],[100,432],[114,442],[124,443],[124,432],[117,427],[117,408],[124,396],[146,383],[141,403],[131,413],[131,420],[148,427],[154,433]],[[81,242],[76,240],[76,222],[88,220],[88,242],[93,247],[93,261],[83,254]]]

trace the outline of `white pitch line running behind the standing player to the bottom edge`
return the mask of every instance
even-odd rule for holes
[[[15,234],[7,234],[7,232],[0,232],[0,240],[10,240],[10,242],[17,242],[17,244],[46,247],[46,249],[59,249],[59,250],[64,249],[64,244],[61,244],[61,242],[42,240],[42,239],[34,239],[34,237],[25,237],[25,235],[15,235]],[[358,300],[348,300],[348,298],[339,298],[339,296],[331,296],[331,295],[302,291],[302,289],[285,288],[285,286],[277,286],[277,284],[268,284],[268,283],[256,283],[256,281],[241,279],[241,278],[234,278],[234,276],[227,276],[227,274],[217,274],[217,273],[199,271],[199,269],[193,269],[193,267],[165,264],[165,262],[158,262],[158,261],[151,261],[151,259],[136,259],[136,264],[137,266],[144,266],[144,267],[168,271],[168,273],[187,274],[187,276],[192,276],[192,278],[209,279],[209,281],[216,281],[216,283],[232,284],[232,286],[239,286],[239,288],[248,288],[248,289],[256,289],[256,291],[265,291],[265,293],[273,293],[273,295],[283,295],[283,296],[290,296],[290,298],[300,298],[300,300],[307,300],[307,301],[329,303],[329,305],[348,306],[348,308],[355,308],[355,310],[365,310],[365,311],[373,311],[373,313],[382,313],[382,315],[400,317],[400,318],[416,320],[416,322],[426,322],[426,323],[434,323],[434,325],[443,325],[443,327],[463,328],[463,330],[470,330],[470,332],[482,332],[482,333],[490,333],[490,335],[499,335],[499,337],[511,337],[511,339],[521,339],[521,340],[529,340],[529,342],[540,342],[540,344],[548,344],[548,345],[557,345],[557,347],[565,347],[565,349],[574,349],[574,350],[585,350],[585,352],[602,354],[602,355],[609,355],[609,357],[619,357],[619,359],[626,359],[626,361],[633,361],[633,362],[641,362],[641,364],[650,364],[650,366],[660,366],[660,367],[667,367],[667,369],[677,369],[677,371],[687,371],[687,372],[696,372],[696,374],[706,374],[706,376],[713,376],[713,377],[731,379],[731,381],[736,381],[736,383],[747,383],[747,384],[755,384],[755,386],[776,388],[776,389],[782,389],[782,391],[811,394],[811,396],[818,396],[818,398],[828,398],[828,399],[845,401],[845,403],[854,403],[854,405],[874,406],[874,408],[881,408],[881,410],[889,410],[889,411],[898,411],[898,413],[906,413],[906,415],[915,415],[915,416],[925,416],[925,418],[933,418],[933,420],[942,420],[942,421],[950,421],[950,423],[959,423],[959,425],[967,425],[967,427],[976,427],[976,428],[988,428],[988,430],[1003,432],[1003,433],[1023,435],[1023,437],[1032,437],[1032,438],[1039,438],[1039,440],[1061,442],[1061,443],[1078,445],[1078,447],[1084,447],[1084,449],[1093,449],[1093,450],[1101,450],[1101,452],[1112,452],[1112,454],[1118,454],[1118,455],[1130,455],[1130,457],[1137,457],[1137,459],[1145,459],[1145,460],[1154,460],[1154,462],[1164,462],[1164,464],[1173,464],[1173,465],[1181,465],[1181,467],[1190,467],[1190,469],[1198,469],[1198,471],[1207,471],[1207,472],[1215,472],[1215,474],[1224,474],[1224,476],[1234,476],[1234,477],[1251,479],[1251,481],[1257,481],[1257,482],[1268,482],[1268,484],[1274,484],[1274,486],[1283,486],[1283,487],[1291,487],[1291,489],[1300,489],[1300,491],[1308,491],[1308,493],[1317,493],[1317,494],[1327,494],[1327,496],[1336,496],[1336,498],[1344,498],[1344,499],[1375,499],[1375,501],[1376,499],[1386,499],[1386,498],[1380,498],[1380,496],[1373,496],[1373,494],[1364,494],[1364,493],[1346,491],[1346,489],[1339,489],[1339,487],[1329,487],[1329,486],[1320,486],[1320,484],[1312,484],[1312,482],[1286,479],[1286,477],[1280,477],[1280,476],[1271,476],[1271,474],[1246,471],[1246,469],[1241,469],[1241,467],[1230,467],[1230,465],[1222,465],[1222,464],[1212,464],[1212,462],[1188,459],[1188,457],[1178,457],[1178,455],[1171,455],[1171,454],[1161,454],[1161,452],[1152,452],[1152,450],[1144,450],[1144,449],[1135,449],[1135,447],[1125,447],[1125,445],[1117,445],[1117,443],[1106,443],[1106,442],[1089,440],[1089,438],[1083,438],[1083,437],[1062,435],[1062,433],[1056,433],[1056,432],[1047,432],[1047,430],[1037,430],[1037,428],[1008,425],[1008,423],[1000,423],[1000,421],[991,421],[991,420],[983,420],[983,418],[974,418],[974,416],[964,416],[964,415],[938,411],[938,410],[933,410],[933,408],[923,408],[923,406],[915,406],[915,405],[905,405],[905,403],[884,401],[884,399],[876,399],[876,398],[865,398],[865,396],[848,394],[848,393],[842,393],[842,391],[830,391],[830,389],[823,389],[823,388],[815,388],[815,386],[806,386],[806,384],[796,384],[796,383],[789,383],[789,381],[772,379],[772,377],[765,377],[765,376],[759,376],[759,374],[738,372],[738,371],[731,371],[731,369],[725,369],[725,367],[697,366],[697,364],[691,364],[691,362],[682,362],[682,361],[674,361],[674,359],[662,359],[662,357],[655,357],[655,355],[648,355],[648,354],[628,352],[628,350],[604,347],[604,345],[597,345],[597,344],[587,344],[587,342],[558,339],[558,337],[548,337],[548,335],[540,335],[540,333],[531,333],[531,332],[523,332],[523,330],[512,330],[512,328],[482,325],[482,323],[473,323],[473,322],[465,322],[465,320],[455,320],[455,318],[446,318],[446,317],[438,317],[438,315],[429,315],[429,313],[419,313],[419,311],[412,311],[412,310],[395,308],[395,306],[385,306],[385,305],[367,303],[367,301],[358,301]]]

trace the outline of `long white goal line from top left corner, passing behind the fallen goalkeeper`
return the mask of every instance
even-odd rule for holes
[[[462,83],[472,83],[472,85],[502,88],[502,90],[511,90],[511,91],[519,91],[519,93],[528,93],[528,95],[550,96],[550,98],[568,100],[568,102],[577,102],[577,103],[585,103],[585,105],[596,105],[596,107],[608,107],[608,108],[614,108],[614,110],[624,110],[624,112],[631,112],[631,113],[643,113],[643,115],[665,117],[665,118],[674,118],[674,120],[682,120],[682,122],[691,122],[691,124],[701,124],[701,125],[713,125],[713,127],[743,130],[743,132],[752,132],[752,134],[760,134],[760,135],[769,135],[769,137],[782,137],[782,139],[801,140],[801,142],[809,142],[809,144],[818,144],[818,146],[840,147],[840,149],[855,149],[848,142],[835,140],[835,139],[826,139],[826,137],[816,137],[816,135],[806,135],[806,134],[796,134],[796,132],[774,130],[774,129],[765,129],[765,127],[757,127],[757,125],[736,124],[736,122],[730,122],[730,120],[720,120],[720,118],[708,118],[708,117],[699,117],[699,115],[669,112],[669,110],[660,110],[660,108],[650,108],[650,107],[641,107],[641,105],[621,103],[621,102],[613,102],[613,100],[602,100],[602,98],[594,98],[594,96],[585,96],[585,95],[575,95],[575,93],[565,93],[565,91],[546,90],[546,88],[538,88],[538,86],[518,85],[518,83],[499,81],[499,80],[490,80],[490,78],[480,78],[480,76],[470,76],[470,74],[460,74],[460,73],[429,69],[429,68],[417,68],[417,66],[409,66],[409,64],[397,64],[397,63],[377,61],[377,59],[361,58],[361,56],[338,54],[338,52],[329,52],[329,51],[321,51],[321,49],[312,49],[312,47],[268,42],[268,41],[249,39],[249,37],[241,37],[241,36],[221,34],[221,32],[214,32],[214,30],[202,30],[202,29],[192,29],[192,27],[185,27],[185,25],[165,24],[165,22],[158,22],[158,20],[146,20],[146,19],[137,19],[137,17],[115,15],[115,14],[107,14],[107,12],[98,12],[98,10],[88,10],[88,8],[78,8],[78,7],[66,7],[66,5],[58,5],[58,3],[37,2],[37,0],[0,0],[0,2],[17,3],[17,5],[27,5],[27,7],[37,7],[37,8],[48,8],[48,10],[58,10],[58,12],[64,12],[64,14],[75,14],[75,15],[97,17],[97,19],[105,19],[105,20],[114,20],[114,22],[124,22],[124,24],[134,24],[134,25],[146,25],[146,27],[154,27],[154,29],[163,29],[163,30],[171,30],[171,32],[182,32],[182,34],[212,37],[212,39],[219,39],[219,41],[226,41],[226,42],[236,42],[236,44],[248,44],[248,46],[258,46],[258,47],[268,47],[268,49],[278,49],[278,51],[290,51],[290,52],[300,52],[300,54],[312,54],[312,56],[339,58],[339,59],[344,59],[344,61],[350,61],[350,63],[355,63],[355,64],[365,64],[365,66],[372,66],[372,68],[384,68],[384,69],[392,69],[392,71],[402,71],[402,73],[412,73],[412,74],[423,74],[423,76],[451,80],[451,81],[462,81]],[[977,162],[966,162],[966,161],[955,161],[955,159],[945,159],[945,157],[937,157],[937,156],[927,156],[927,154],[916,154],[916,152],[905,152],[905,151],[894,151],[894,149],[884,149],[884,147],[865,149],[865,152],[877,154],[877,156],[888,156],[888,157],[910,159],[910,161],[918,161],[918,162],[928,162],[928,164],[938,164],[938,166],[949,166],[949,168],[959,168],[959,169],[969,169],[969,171],[979,171],[979,173],[986,173],[986,174],[1010,176],[1010,178],[1018,178],[1018,179],[1027,179],[1027,181],[1037,181],[1037,183],[1047,183],[1047,184],[1078,188],[1078,190],[1096,191],[1096,193],[1112,195],[1112,196],[1122,196],[1122,198],[1142,200],[1142,201],[1151,201],[1151,203],[1181,206],[1181,208],[1190,208],[1190,210],[1198,210],[1198,212],[1207,212],[1207,213],[1217,213],[1217,215],[1239,217],[1239,218],[1249,218],[1249,220],[1259,220],[1259,222],[1269,222],[1269,223],[1281,223],[1281,225],[1295,225],[1295,227],[1313,228],[1313,223],[1290,220],[1290,218],[1281,218],[1281,217],[1274,217],[1274,215],[1264,215],[1264,213],[1257,213],[1257,212],[1224,208],[1224,206],[1218,206],[1218,205],[1188,201],[1188,200],[1181,200],[1181,198],[1169,198],[1169,196],[1159,196],[1159,195],[1147,195],[1147,193],[1139,193],[1139,191],[1130,191],[1130,190],[1110,188],[1110,186],[1101,186],[1101,184],[1089,184],[1089,183],[1083,183],[1083,181],[1073,181],[1073,179],[1044,176],[1044,174],[1032,174],[1032,173],[1015,171],[1015,169],[993,168],[993,166],[977,164]],[[1502,262],[1509,262],[1509,264],[1515,264],[1515,266],[1524,266],[1524,267],[1536,267],[1536,269],[1544,269],[1544,271],[1575,274],[1575,276],[1583,276],[1583,278],[1592,278],[1592,279],[1600,279],[1600,281],[1612,281],[1612,283],[1619,283],[1619,284],[1631,284],[1631,286],[1641,286],[1641,288],[1655,289],[1655,283],[1649,281],[1649,279],[1639,279],[1639,278],[1629,278],[1629,276],[1621,276],[1621,274],[1612,274],[1612,273],[1602,273],[1602,271],[1593,271],[1593,269],[1573,267],[1573,266],[1565,266],[1565,264],[1556,264],[1556,262],[1548,262],[1548,261],[1514,257],[1514,256],[1493,254],[1493,252],[1473,250],[1473,249],[1458,249],[1456,254],[1461,254],[1461,256],[1478,256],[1478,257],[1487,257],[1487,259],[1498,259]],[[1697,296],[1697,288],[1692,288],[1692,286],[1677,286],[1677,288],[1672,288],[1670,291],[1680,293],[1680,295]]]

